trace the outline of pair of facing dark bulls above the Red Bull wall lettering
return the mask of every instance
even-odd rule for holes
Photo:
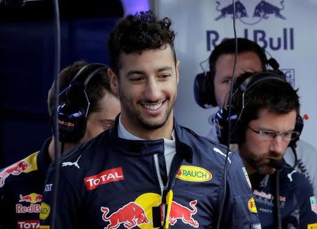
[[[285,20],[286,17],[282,14],[284,9],[284,1],[235,1],[235,16],[238,20],[247,25],[254,25],[259,23],[261,20],[266,20],[271,17],[278,18],[279,20]],[[219,12],[219,15],[216,16],[215,20],[232,18],[232,1],[216,0],[216,11]]]

